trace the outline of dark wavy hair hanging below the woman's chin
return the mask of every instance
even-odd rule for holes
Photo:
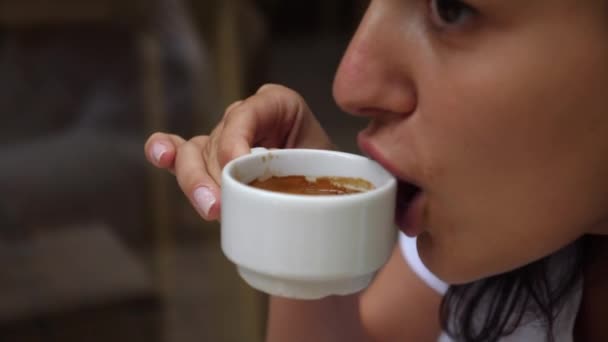
[[[496,341],[529,319],[553,324],[580,286],[586,238],[513,271],[448,289],[440,309],[444,331],[457,341]]]

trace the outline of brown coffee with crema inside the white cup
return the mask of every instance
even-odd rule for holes
[[[348,195],[368,191],[374,186],[362,178],[272,176],[249,183],[255,188],[295,195]]]

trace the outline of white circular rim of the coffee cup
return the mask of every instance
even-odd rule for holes
[[[232,174],[232,170],[236,167],[238,163],[245,162],[249,159],[259,158],[262,153],[276,153],[276,154],[291,154],[291,153],[315,153],[315,154],[332,154],[347,158],[356,158],[361,159],[363,161],[367,161],[373,163],[378,169],[386,176],[387,180],[383,182],[380,186],[375,186],[373,189],[345,194],[340,196],[315,196],[315,195],[303,195],[303,194],[291,194],[277,191],[270,191],[260,188],[252,187],[244,182],[238,180]],[[231,186],[239,187],[244,191],[247,191],[251,194],[255,194],[256,196],[268,196],[276,199],[284,199],[284,200],[299,200],[299,201],[314,201],[314,202],[333,202],[333,201],[348,201],[348,200],[361,200],[366,197],[374,197],[378,196],[386,191],[391,190],[392,188],[396,188],[397,179],[390,172],[388,172],[385,168],[382,167],[378,162],[367,158],[362,155],[342,152],[342,151],[333,151],[333,150],[320,150],[320,149],[308,149],[308,148],[291,148],[291,149],[268,149],[267,152],[257,152],[250,153],[238,157],[236,159],[231,160],[224,169],[222,170],[222,188],[226,185],[226,182],[230,183]]]

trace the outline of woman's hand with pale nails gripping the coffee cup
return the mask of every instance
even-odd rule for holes
[[[279,85],[262,86],[255,95],[230,105],[210,135],[188,141],[155,133],[146,142],[146,157],[177,177],[182,191],[206,220],[220,215],[223,167],[251,147],[330,149],[329,137],[304,99]]]

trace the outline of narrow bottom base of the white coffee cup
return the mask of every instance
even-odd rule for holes
[[[238,272],[251,287],[269,295],[293,299],[321,299],[331,295],[348,295],[366,288],[374,273],[339,280],[299,280],[277,278],[237,266]]]

